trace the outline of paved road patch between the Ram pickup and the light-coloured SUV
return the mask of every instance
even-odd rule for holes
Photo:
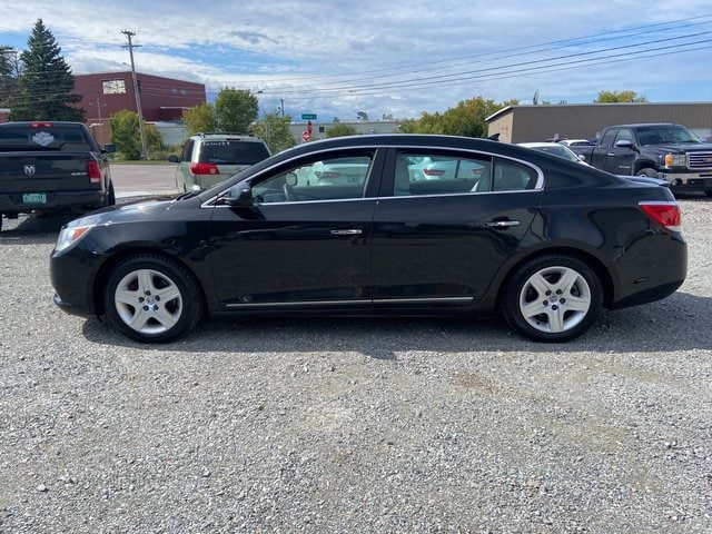
[[[111,165],[111,179],[119,198],[176,192],[175,176],[174,164]]]

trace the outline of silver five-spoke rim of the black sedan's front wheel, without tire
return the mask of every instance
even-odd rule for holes
[[[184,298],[176,283],[155,269],[137,269],[123,276],[113,291],[119,318],[134,332],[164,334],[181,317]]]

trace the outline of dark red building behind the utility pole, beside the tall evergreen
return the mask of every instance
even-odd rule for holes
[[[141,112],[147,122],[179,122],[184,109],[206,102],[205,85],[160,76],[136,73]],[[137,111],[131,71],[75,76],[77,105],[87,111],[87,123],[100,144],[110,142],[109,119],[117,111]]]

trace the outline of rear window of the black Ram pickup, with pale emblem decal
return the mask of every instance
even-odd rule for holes
[[[92,150],[82,130],[71,127],[12,126],[0,128],[0,150],[61,150],[86,152]]]

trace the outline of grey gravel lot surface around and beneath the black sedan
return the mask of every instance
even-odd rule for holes
[[[0,533],[712,532],[712,199],[689,278],[536,345],[453,319],[220,320],[146,347],[0,234]]]

